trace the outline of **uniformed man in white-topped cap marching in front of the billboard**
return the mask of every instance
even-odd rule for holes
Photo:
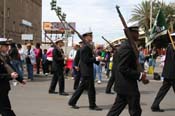
[[[59,94],[67,96],[68,93],[64,92],[64,53],[61,47],[64,46],[62,39],[57,39],[55,42],[55,46],[53,49],[53,62],[52,62],[52,69],[53,69],[53,77],[49,88],[50,94],[57,94],[55,92],[55,88],[57,83],[59,83]]]

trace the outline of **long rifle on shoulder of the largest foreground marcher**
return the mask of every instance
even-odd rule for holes
[[[133,37],[132,37],[132,35],[131,35],[131,32],[130,32],[130,30],[128,29],[128,26],[127,26],[127,24],[126,24],[126,22],[125,22],[125,19],[123,18],[122,14],[121,14],[119,8],[120,8],[120,7],[117,5],[117,6],[116,6],[116,9],[117,9],[117,12],[118,12],[118,14],[119,14],[119,17],[120,17],[120,19],[121,19],[121,22],[122,22],[122,24],[123,24],[123,26],[124,26],[124,28],[125,28],[125,35],[126,35],[126,37],[128,38],[129,44],[131,45],[131,48],[133,49],[134,54],[135,54],[135,56],[136,56],[136,58],[137,58],[137,69],[138,69],[139,72],[144,72],[144,69],[142,68],[142,66],[140,65],[140,63],[138,63],[138,55],[139,55],[138,49],[137,49],[137,47],[136,47],[136,44],[135,44],[134,39],[133,39]],[[147,83],[149,83],[149,80],[145,79],[145,80],[142,80],[142,82],[143,82],[144,84],[147,84]]]

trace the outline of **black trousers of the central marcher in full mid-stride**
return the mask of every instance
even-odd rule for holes
[[[94,79],[92,77],[82,77],[80,85],[69,100],[69,105],[75,105],[85,89],[87,89],[88,91],[89,107],[95,107],[96,92],[94,86]]]

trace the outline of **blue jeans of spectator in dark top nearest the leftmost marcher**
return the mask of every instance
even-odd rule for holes
[[[23,78],[23,69],[20,60],[12,60],[10,62],[15,69],[15,71],[18,73],[19,78]]]

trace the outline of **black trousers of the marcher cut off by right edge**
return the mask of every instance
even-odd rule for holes
[[[157,96],[151,108],[159,108],[160,102],[163,100],[163,98],[165,97],[171,86],[173,87],[173,90],[175,92],[175,80],[164,79],[163,84],[159,92],[157,93]]]

